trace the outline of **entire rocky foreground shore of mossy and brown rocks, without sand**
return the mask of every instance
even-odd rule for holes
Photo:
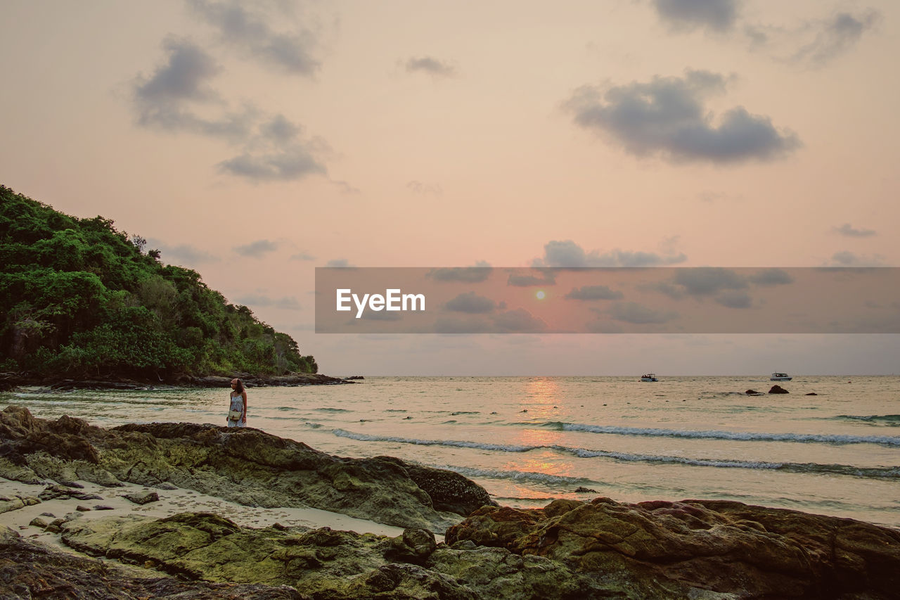
[[[521,510],[450,471],[329,456],[253,429],[102,429],[9,406],[0,477],[35,490],[0,497],[3,598],[900,597],[894,529],[710,500],[599,497]],[[130,508],[97,510],[134,486],[145,490],[126,495]],[[248,511],[314,506],[403,529],[248,526],[199,501],[148,512],[197,493]],[[50,506],[58,518],[14,522]],[[68,550],[29,539],[40,536]]]

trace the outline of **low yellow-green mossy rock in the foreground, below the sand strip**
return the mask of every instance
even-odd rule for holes
[[[604,597],[607,589],[553,559],[474,545],[437,547],[424,530],[397,538],[328,528],[254,530],[214,514],[186,513],[70,523],[62,540],[182,578],[290,585],[317,599],[575,600]]]

